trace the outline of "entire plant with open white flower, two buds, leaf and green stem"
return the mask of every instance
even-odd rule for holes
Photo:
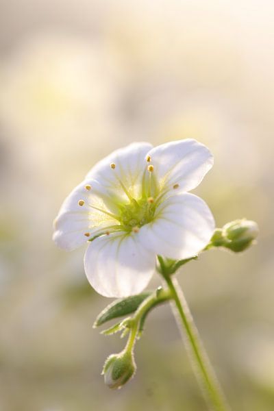
[[[84,257],[88,281],[99,294],[120,298],[99,314],[95,327],[134,313],[103,331],[128,334],[125,349],[105,362],[103,374],[110,388],[121,388],[134,375],[134,345],[147,314],[172,299],[210,409],[225,411],[223,393],[172,276],[201,251],[220,247],[240,253],[258,236],[258,225],[246,219],[216,229],[207,204],[189,193],[212,165],[212,153],[192,139],[158,147],[139,142],[118,149],[95,164],[66,197],[54,222],[53,240],[66,250],[88,242]],[[168,288],[144,295],[156,256]]]

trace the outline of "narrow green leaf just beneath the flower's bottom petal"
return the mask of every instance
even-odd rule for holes
[[[93,324],[93,327],[99,327],[99,325],[102,325],[107,321],[131,314],[137,310],[142,301],[149,297],[151,293],[151,291],[142,292],[138,295],[131,295],[130,297],[113,301],[109,306],[105,307],[102,312],[100,312],[99,316],[97,316],[97,319],[95,320],[95,323]]]

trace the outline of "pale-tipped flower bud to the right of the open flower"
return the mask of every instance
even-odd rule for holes
[[[223,233],[225,238],[229,240],[225,247],[237,253],[244,251],[252,244],[258,236],[259,229],[255,221],[242,219],[225,224]]]

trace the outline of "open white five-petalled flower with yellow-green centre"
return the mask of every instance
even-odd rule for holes
[[[65,199],[53,240],[67,250],[88,240],[85,271],[101,295],[137,294],[151,279],[157,255],[190,258],[208,244],[212,213],[187,191],[212,164],[210,151],[190,139],[116,150]]]

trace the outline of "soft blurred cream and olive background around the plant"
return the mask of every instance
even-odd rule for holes
[[[168,305],[120,391],[100,376],[124,340],[92,322],[84,248],[51,241],[90,167],[138,140],[197,138],[214,168],[195,190],[216,225],[258,221],[258,245],[179,273],[233,410],[274,409],[271,0],[0,0],[0,410],[206,410]],[[150,286],[157,286],[155,275]]]

